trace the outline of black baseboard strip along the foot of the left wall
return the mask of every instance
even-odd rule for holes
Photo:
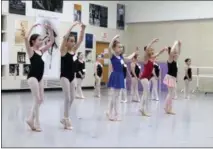
[[[94,89],[93,86],[82,87],[82,89]],[[2,93],[11,93],[11,92],[29,92],[30,89],[10,89],[2,90]],[[62,88],[45,88],[44,91],[62,91]]]

